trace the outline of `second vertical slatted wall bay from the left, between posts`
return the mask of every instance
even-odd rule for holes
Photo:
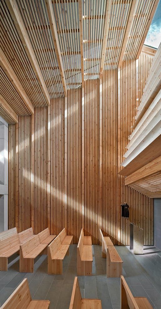
[[[11,131],[11,126],[9,126],[9,131]],[[22,231],[29,228],[31,222],[31,138],[30,137],[31,137],[31,117],[20,116],[18,119],[18,124],[15,126],[15,130],[13,129],[12,126],[13,141],[15,139],[15,153],[14,153],[15,226],[17,227],[18,231]],[[11,153],[12,151],[10,152],[10,154]],[[14,162],[12,163],[11,161],[10,164],[12,166]],[[11,167],[9,167],[9,170],[10,169]],[[13,177],[14,176],[9,177],[10,180],[12,180],[12,182]],[[13,187],[13,183],[9,184],[9,186]],[[12,197],[12,194],[13,193],[10,192],[10,197]],[[12,204],[14,204],[13,200]]]

